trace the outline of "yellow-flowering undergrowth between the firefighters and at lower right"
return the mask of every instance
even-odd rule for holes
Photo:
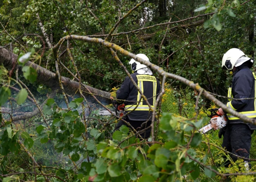
[[[198,93],[192,90],[191,88],[178,88],[178,87],[170,87],[168,83],[165,84],[165,94],[163,95],[162,99],[162,112],[172,113],[175,117],[187,117],[188,119],[192,119],[196,116],[196,109],[195,103],[198,97]],[[210,109],[216,109],[217,106],[215,104],[208,104],[204,98],[199,98],[198,102],[198,117],[197,120],[202,119],[203,117],[208,117],[210,114]],[[208,117],[208,121],[210,117]],[[194,120],[193,120],[194,121]],[[206,122],[204,125],[208,124]],[[179,124],[177,124],[179,125]],[[186,134],[191,135],[191,132],[187,132]],[[158,133],[158,139],[161,140],[161,133]],[[216,146],[221,147],[223,137],[220,139],[218,137],[218,131],[211,130],[205,135],[202,135],[202,140],[205,142],[213,143]],[[201,144],[200,148],[197,148],[197,157],[203,158],[205,153],[202,151],[207,151],[208,145]],[[206,165],[215,165],[216,168],[220,173],[237,173],[237,172],[244,172],[244,162],[242,159],[237,160],[237,162],[233,162],[231,157],[227,155],[223,150],[216,148],[215,146],[210,146],[210,151],[207,153],[209,159]],[[231,165],[229,168],[225,168],[223,164],[225,160],[223,156],[226,156],[228,160],[231,161]],[[251,150],[250,150],[250,158],[256,158],[256,132],[252,134],[252,141],[251,141]],[[211,160],[210,160],[211,159]],[[256,170],[256,162],[251,162],[251,171]],[[201,179],[201,182],[219,182],[220,177],[213,177],[209,179],[204,174],[204,168],[201,166],[201,174],[197,180]],[[189,177],[188,177],[189,178]],[[254,176],[237,176],[237,177],[230,177],[232,182],[239,181],[239,182],[251,182],[254,181],[256,177]],[[192,180],[192,179],[190,179]]]

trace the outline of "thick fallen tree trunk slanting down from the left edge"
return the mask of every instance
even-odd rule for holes
[[[17,54],[11,53],[10,51],[8,51],[5,48],[0,48],[0,65],[5,66],[5,68],[11,69],[13,66],[12,60],[16,61],[17,57],[18,57]],[[31,68],[34,68],[36,70],[36,72],[37,72],[36,82],[46,85],[47,87],[51,88],[52,90],[56,90],[56,89],[61,90],[61,89],[59,89],[60,88],[59,80],[55,73],[43,68],[42,66],[36,65],[35,63],[33,63],[31,61],[26,62],[25,66],[30,66]],[[20,69],[21,66],[16,64],[16,67],[19,68],[19,72],[21,73],[21,69]],[[67,94],[74,95],[75,93],[79,93],[79,91],[78,91],[79,82],[73,81],[67,77],[61,77],[61,80],[62,80],[64,90]],[[85,84],[82,84],[82,85],[83,85],[83,87],[81,87],[81,89],[82,89],[83,93],[88,93],[88,90],[90,90],[90,92],[92,94],[97,95],[96,97],[98,99],[104,100],[104,102],[107,102],[107,103],[110,102],[110,99],[107,99],[110,97],[109,92],[105,92],[105,91],[90,87]],[[86,88],[88,88],[88,90]]]

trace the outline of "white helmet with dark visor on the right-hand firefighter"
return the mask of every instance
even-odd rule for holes
[[[242,63],[250,60],[250,58],[248,59],[244,59],[243,61],[239,61],[239,63],[237,62],[237,60],[241,57],[241,56],[245,56],[247,57],[243,51],[241,51],[240,49],[237,48],[232,48],[229,49],[227,51],[227,53],[225,53],[223,55],[222,58],[222,64],[221,64],[221,68],[222,69],[227,69],[227,70],[232,70],[234,68],[234,66],[240,66],[242,65]]]

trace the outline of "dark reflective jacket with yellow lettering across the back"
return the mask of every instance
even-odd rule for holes
[[[160,93],[160,83],[157,78],[152,75],[140,75],[137,72],[131,74],[131,77],[154,109],[157,95]],[[125,111],[132,111],[128,114],[130,120],[146,121],[152,116],[152,112],[149,112],[149,106],[145,100],[141,98],[140,93],[129,77],[125,78],[121,87],[116,92],[116,99],[126,100]]]

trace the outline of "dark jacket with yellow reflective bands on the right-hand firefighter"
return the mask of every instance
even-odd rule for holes
[[[232,87],[228,88],[228,97],[242,100],[229,99],[230,101],[227,103],[227,107],[230,107],[244,116],[256,118],[256,99],[245,99],[256,97],[255,80],[256,76],[250,68],[247,66],[240,68],[233,77]],[[227,114],[227,116],[231,124],[244,123],[238,117],[230,114]],[[250,129],[256,129],[255,125],[247,124]]]

